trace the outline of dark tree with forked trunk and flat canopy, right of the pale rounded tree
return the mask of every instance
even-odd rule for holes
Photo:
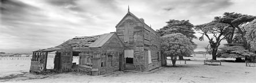
[[[214,60],[216,60],[218,46],[220,46],[221,40],[225,39],[227,36],[225,34],[230,33],[228,28],[229,27],[227,24],[222,24],[217,21],[195,26],[195,30],[202,34],[202,36],[199,37],[199,40],[204,40],[204,36],[206,36],[209,40],[210,50],[212,50],[212,56]],[[209,48],[209,45],[207,48]]]

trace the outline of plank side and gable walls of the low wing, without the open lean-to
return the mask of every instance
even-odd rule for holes
[[[123,55],[124,46],[116,34],[102,46],[92,47],[74,47],[74,51],[80,51],[79,70],[83,73],[98,75],[112,73],[121,69],[120,58]],[[86,57],[91,57],[91,63],[85,63]]]

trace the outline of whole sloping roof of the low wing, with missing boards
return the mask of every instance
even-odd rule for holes
[[[61,50],[63,47],[102,47],[107,40],[109,40],[114,35],[112,33],[105,33],[103,35],[95,35],[95,36],[76,36],[72,39],[67,40],[66,42],[60,44],[56,47],[51,47],[38,51],[55,51]]]

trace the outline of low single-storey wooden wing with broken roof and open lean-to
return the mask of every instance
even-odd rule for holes
[[[55,52],[54,69],[72,70],[72,56],[79,56],[76,69],[80,73],[99,75],[121,69],[119,59],[124,46],[116,33],[105,33],[97,36],[74,37],[60,46],[34,51],[31,60],[31,72],[46,71],[47,52]]]

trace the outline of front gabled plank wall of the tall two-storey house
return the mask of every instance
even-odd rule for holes
[[[129,27],[127,26],[129,25]],[[132,32],[129,32],[130,40],[129,42],[125,42],[125,28],[132,29]],[[126,67],[132,67],[128,69],[132,70],[144,70],[144,55],[143,55],[143,27],[144,25],[139,20],[136,20],[136,18],[132,16],[127,16],[122,20],[121,24],[117,26],[116,32],[118,37],[121,39],[121,41],[124,43],[125,49],[124,50],[133,50],[133,65],[126,66]],[[125,63],[124,59],[124,63]],[[128,64],[127,64],[128,65]]]

